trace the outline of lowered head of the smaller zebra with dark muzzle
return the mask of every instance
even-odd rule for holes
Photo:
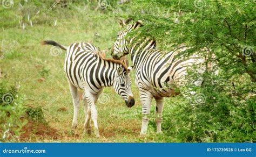
[[[117,92],[118,95],[120,95],[124,99],[127,107],[129,108],[131,108],[135,103],[131,90],[131,69],[131,67],[126,68],[125,66],[120,65],[116,70],[116,74],[113,81],[114,90]]]

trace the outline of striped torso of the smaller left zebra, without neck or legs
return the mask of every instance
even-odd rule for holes
[[[97,52],[97,47],[92,44],[76,42],[67,48],[64,64],[65,74],[73,86],[85,90],[86,85],[89,85],[89,89],[95,94],[101,90],[101,84],[95,84],[95,80],[92,78],[92,75],[95,72],[93,71],[94,69],[91,69],[90,67],[95,67],[97,64],[97,62],[95,62],[95,60],[97,60]]]

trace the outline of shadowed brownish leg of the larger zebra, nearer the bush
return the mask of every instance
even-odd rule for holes
[[[155,97],[156,99],[156,124],[157,124],[157,133],[161,132],[161,122],[163,120],[162,113],[164,109],[164,98],[163,97]]]

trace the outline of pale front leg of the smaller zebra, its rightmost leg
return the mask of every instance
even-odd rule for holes
[[[98,112],[97,112],[96,106],[95,106],[95,100],[97,98],[95,95],[88,94],[88,93],[85,94],[85,98],[86,98],[87,104],[89,105],[89,109],[91,111],[91,118],[92,118],[92,121],[94,124],[95,135],[96,135],[96,137],[99,137],[99,129],[98,129],[98,122],[97,122]],[[87,118],[86,118],[86,120],[87,120]],[[88,120],[90,120],[90,119],[88,119]],[[88,122],[88,123],[90,123],[90,122]]]

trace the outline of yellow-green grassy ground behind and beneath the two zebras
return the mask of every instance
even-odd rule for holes
[[[15,6],[17,9],[17,6]],[[32,7],[30,7],[32,8]],[[52,56],[50,54],[51,46],[41,46],[42,40],[55,40],[63,45],[69,45],[72,42],[85,41],[93,42],[101,49],[112,46],[119,26],[116,18],[93,18],[90,15],[103,16],[99,11],[88,11],[80,8],[68,12],[58,9],[47,13],[41,11],[39,15],[33,17],[39,6],[33,6],[33,13],[30,16],[37,21],[33,27],[27,22],[25,30],[18,24],[18,19],[25,20],[27,12],[18,12],[15,15],[15,8],[2,10],[1,14],[6,16],[6,22],[2,23],[0,41],[3,42],[3,49],[8,48],[12,41],[17,41],[18,45],[11,49],[1,60],[0,67],[3,75],[7,74],[3,80],[8,80],[10,84],[21,83],[20,93],[25,95],[26,104],[31,106],[42,106],[45,112],[45,118],[50,126],[57,129],[60,137],[57,141],[62,142],[165,142],[173,141],[165,135],[154,135],[156,129],[152,123],[149,126],[149,135],[145,138],[138,138],[140,131],[140,103],[138,98],[138,89],[133,83],[133,94],[136,99],[136,105],[128,109],[124,101],[114,90],[109,87],[104,89],[104,93],[109,95],[109,102],[105,104],[97,103],[98,123],[101,138],[94,138],[93,135],[83,134],[84,112],[79,111],[79,125],[75,133],[71,130],[73,105],[69,92],[68,82],[63,72],[63,63],[65,54]],[[13,16],[8,15],[10,12]],[[7,17],[8,16],[8,17]],[[57,25],[53,23],[57,19]],[[45,23],[42,21],[45,20]],[[7,25],[6,23],[10,24]],[[96,37],[95,33],[100,37]],[[109,57],[110,55],[107,54]],[[43,71],[49,72],[43,73]],[[132,74],[134,75],[134,73]],[[38,79],[45,77],[45,81],[38,82]],[[2,81],[3,81],[2,80]],[[58,111],[59,108],[66,108],[66,111]],[[152,106],[152,112],[155,107]],[[170,110],[169,110],[170,112]],[[39,139],[31,137],[28,141],[56,141],[51,137]],[[175,141],[175,140],[174,140]]]

